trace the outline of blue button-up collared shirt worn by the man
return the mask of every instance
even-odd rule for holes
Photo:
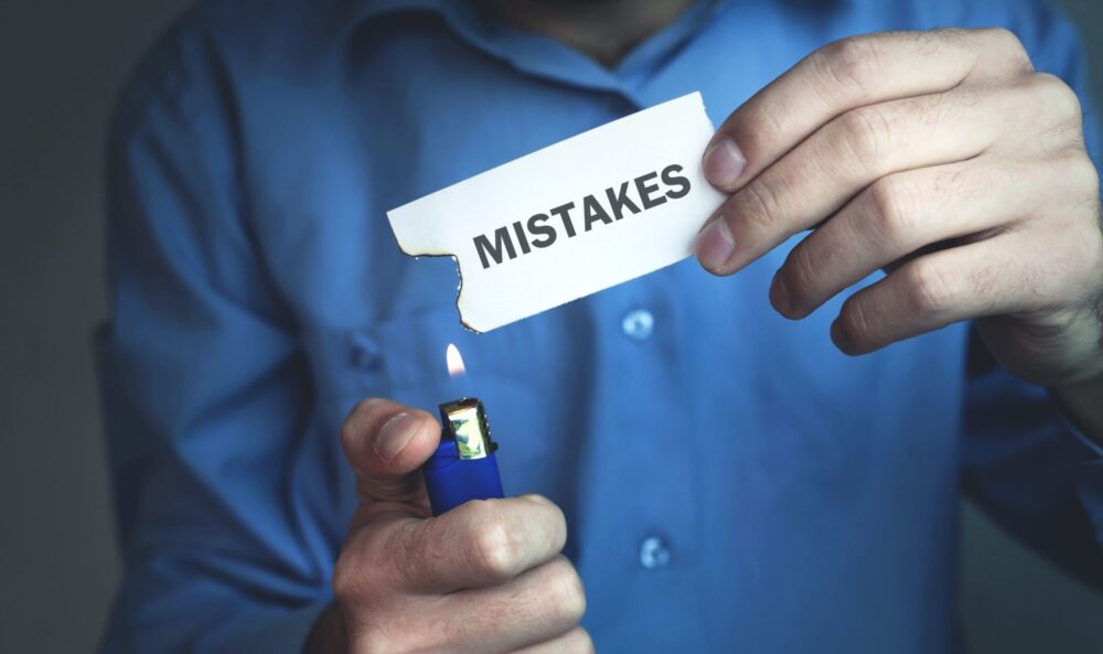
[[[465,2],[201,4],[111,127],[98,350],[126,575],[103,651],[297,652],[356,502],[342,418],[451,399],[449,342],[506,492],[567,515],[601,652],[946,652],[963,490],[1103,579],[1100,453],[968,325],[848,358],[838,299],[770,309],[790,242],[475,335],[454,266],[400,255],[385,216],[693,90],[719,124],[837,37],[993,24],[1083,93],[1073,30],[1031,0],[704,2],[612,69]]]

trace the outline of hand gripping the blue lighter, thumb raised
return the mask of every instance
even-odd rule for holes
[[[339,608],[318,621],[308,654],[593,651],[555,504],[472,501],[431,517],[418,469],[440,426],[425,411],[365,400],[341,439],[360,507],[333,572]]]

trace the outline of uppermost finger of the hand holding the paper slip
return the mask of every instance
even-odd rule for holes
[[[705,149],[705,176],[731,193],[846,111],[1028,69],[1021,43],[1003,29],[881,32],[835,41],[724,121]]]

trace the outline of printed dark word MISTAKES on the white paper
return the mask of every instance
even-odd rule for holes
[[[579,230],[589,232],[595,225],[610,225],[627,215],[654,208],[667,200],[685,197],[690,184],[689,179],[682,174],[683,170],[674,163],[660,172],[624,182],[620,187],[610,186],[603,195],[587,195],[579,204],[560,204],[546,214],[499,227],[491,236],[480,234],[473,239],[479,260],[483,268],[490,268],[493,264],[501,264],[506,256],[516,259],[518,250],[527,255],[533,248],[550,247],[559,234],[574,238]],[[575,226],[576,221],[578,227]]]

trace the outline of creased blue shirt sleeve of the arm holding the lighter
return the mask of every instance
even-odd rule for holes
[[[298,653],[330,600],[288,481],[309,373],[249,228],[229,89],[216,44],[178,30],[111,122],[96,349],[124,579],[104,653]]]

